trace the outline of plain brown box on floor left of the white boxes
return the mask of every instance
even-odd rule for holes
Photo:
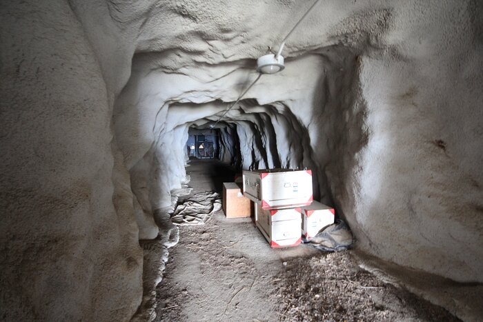
[[[244,197],[237,183],[223,183],[222,203],[226,218],[250,217],[250,199]]]

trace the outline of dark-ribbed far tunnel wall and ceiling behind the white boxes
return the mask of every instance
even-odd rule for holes
[[[170,105],[170,113],[206,109],[208,114],[226,108],[228,103],[214,101],[200,106],[193,104]],[[222,119],[219,112],[193,122],[177,125],[189,132],[219,133],[219,157],[238,170],[263,168],[313,168],[308,131],[284,103],[259,105],[255,99],[239,102]],[[218,144],[217,144],[218,146]],[[187,150],[186,150],[187,152]],[[189,157],[189,156],[186,156]],[[317,182],[317,181],[315,181]]]

